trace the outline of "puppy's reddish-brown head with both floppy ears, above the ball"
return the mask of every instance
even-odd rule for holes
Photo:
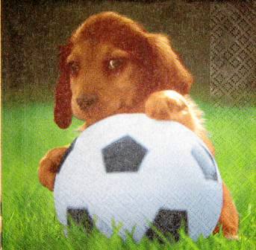
[[[162,34],[112,12],[90,16],[60,48],[60,78],[54,121],[72,115],[93,124],[109,115],[136,111],[152,92],[187,94],[193,79]]]

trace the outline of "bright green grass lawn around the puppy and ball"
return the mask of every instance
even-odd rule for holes
[[[38,182],[37,167],[47,150],[69,144],[78,135],[75,129],[81,121],[66,131],[58,129],[51,105],[29,103],[4,106],[2,112],[4,249],[255,249],[255,108],[220,108],[203,102],[199,106],[206,114],[222,179],[240,213],[240,240],[217,234],[197,242],[182,236],[175,244],[147,239],[137,244],[131,237],[122,242],[117,233],[110,239],[98,231],[86,237],[80,228],[64,237],[52,193]]]

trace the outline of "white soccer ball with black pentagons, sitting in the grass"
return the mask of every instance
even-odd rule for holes
[[[222,209],[222,179],[213,156],[190,129],[144,114],[113,115],[88,127],[63,158],[54,185],[60,222],[69,217],[110,237],[193,240],[208,237]],[[96,219],[95,219],[96,218]]]

